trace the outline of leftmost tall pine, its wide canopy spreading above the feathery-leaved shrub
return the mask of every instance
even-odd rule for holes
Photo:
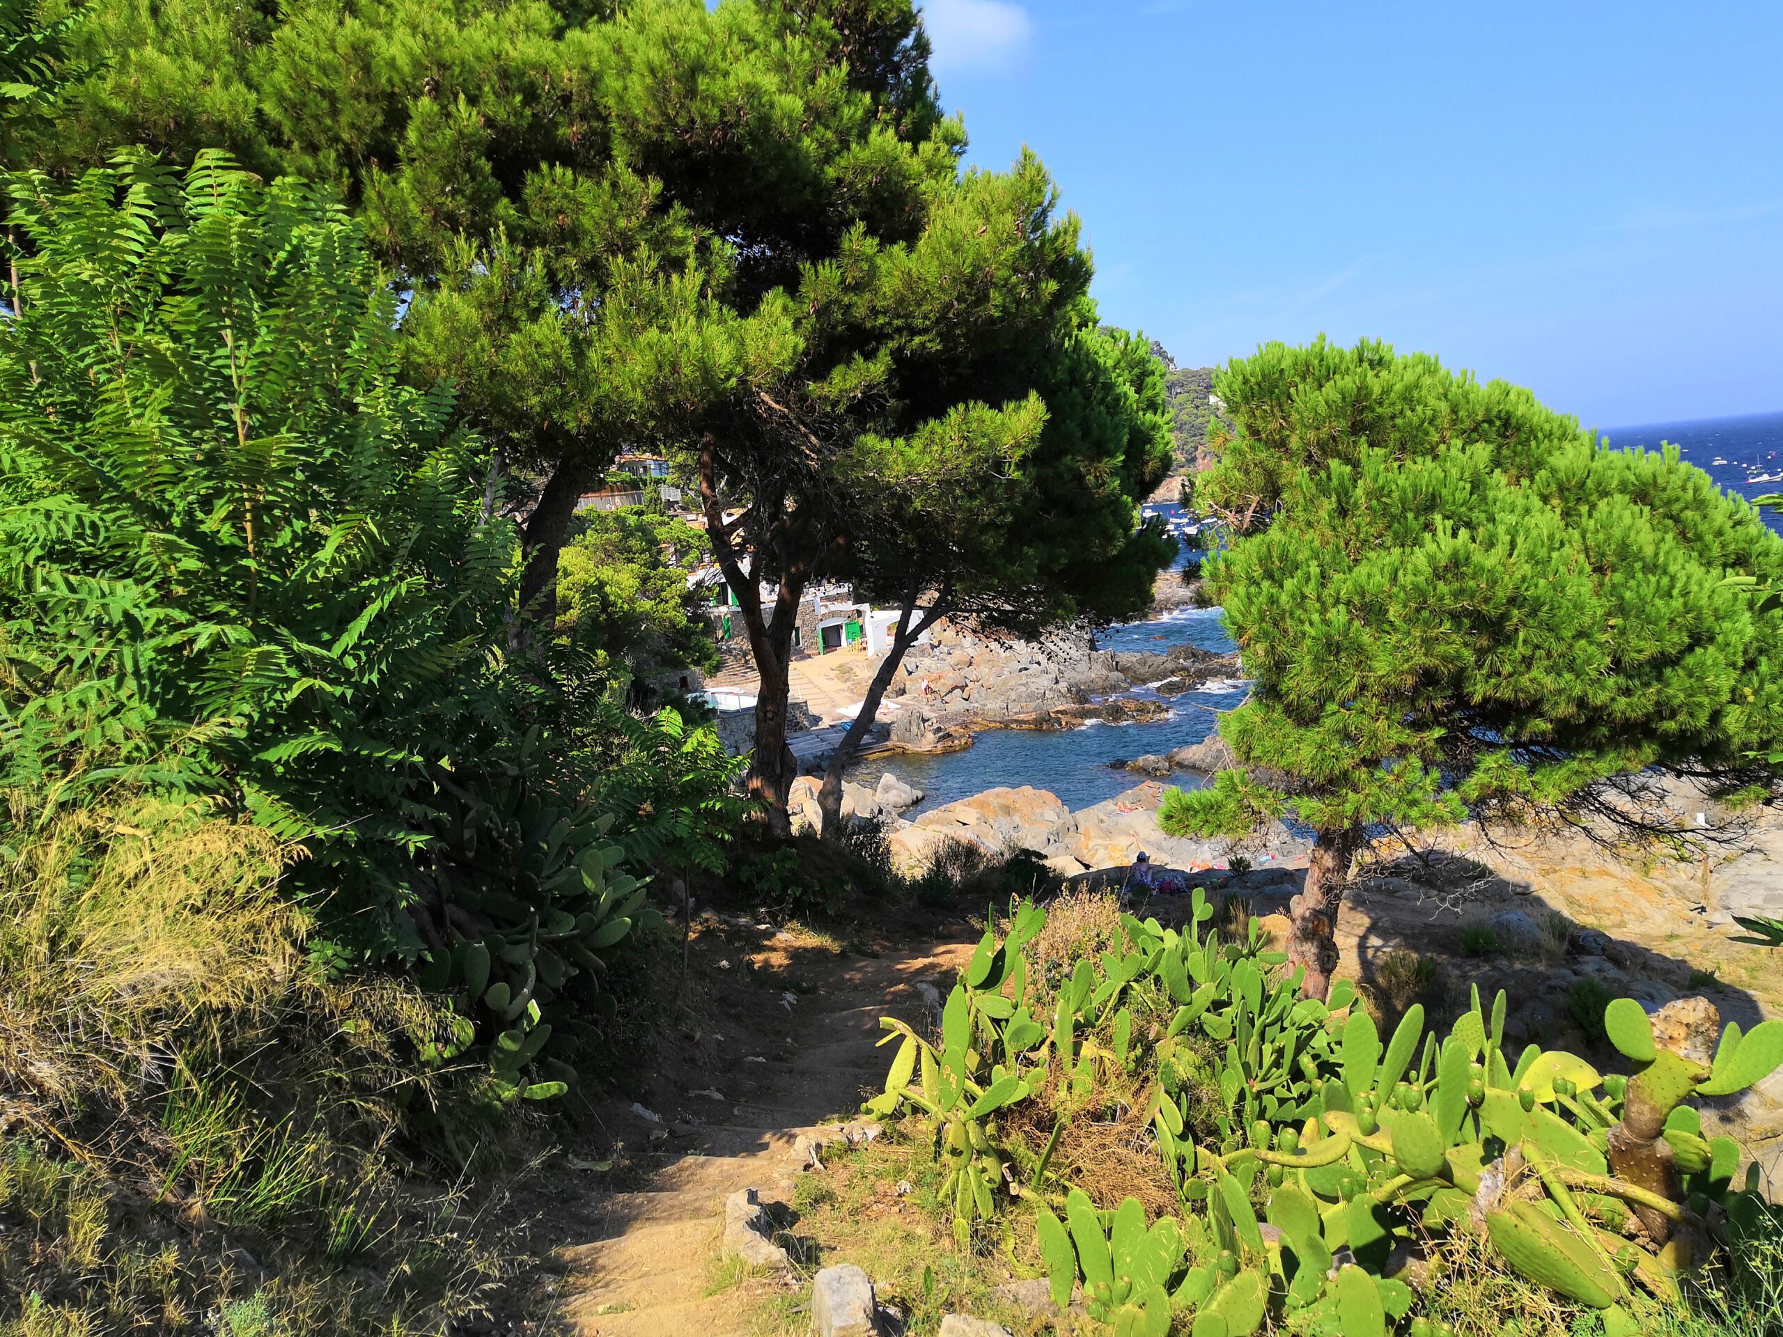
[[[892,0],[94,0],[75,41],[34,166],[221,148],[333,185],[414,289],[414,373],[546,476],[528,594],[581,487],[783,369],[785,285],[913,239],[963,148]]]

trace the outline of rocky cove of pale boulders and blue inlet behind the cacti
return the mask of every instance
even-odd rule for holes
[[[1218,715],[1243,699],[1218,610],[1166,608],[1045,645],[943,633],[890,693],[902,751],[854,768],[843,809],[879,818],[906,868],[952,840],[1034,850],[1080,882],[1123,877],[1146,850],[1179,884],[1237,898],[1264,932],[1286,934],[1303,838],[1275,827],[1234,849],[1157,825],[1170,786],[1228,763]],[[817,822],[813,779],[799,781],[793,813]],[[1608,997],[1651,1011],[1703,995],[1746,1029],[1783,1014],[1778,956],[1733,941],[1735,915],[1783,915],[1783,829],[1708,863],[1630,863],[1580,836],[1409,834],[1416,854],[1375,841],[1337,916],[1337,973],[1389,1011],[1421,1000],[1451,1013],[1473,986],[1503,988],[1519,1000],[1517,1043],[1580,1050],[1596,1043],[1582,1018]],[[1136,913],[1170,923],[1187,904],[1163,895]],[[1783,1194],[1783,1073],[1712,1102],[1705,1125],[1749,1146],[1767,1191]]]

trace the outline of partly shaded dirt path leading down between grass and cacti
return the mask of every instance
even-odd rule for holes
[[[940,945],[877,959],[801,963],[813,989],[763,995],[767,1007],[738,1007],[727,1025],[729,1064],[711,1071],[719,1103],[685,1091],[685,1105],[713,1111],[699,1125],[674,1125],[679,1155],[640,1189],[615,1193],[588,1214],[594,1237],[572,1244],[563,1308],[583,1337],[729,1337],[747,1332],[735,1294],[704,1294],[724,1226],[724,1200],[758,1189],[763,1202],[792,1196],[801,1134],[854,1118],[863,1093],[884,1080],[879,1016],[915,1020],[916,982],[947,988],[970,945]],[[765,954],[772,966],[772,945]],[[781,963],[785,964],[785,963]],[[793,1002],[786,1002],[792,998]],[[752,1014],[763,1013],[763,1014]],[[754,1061],[751,1061],[754,1059]]]

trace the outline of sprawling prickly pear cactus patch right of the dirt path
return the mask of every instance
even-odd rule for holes
[[[1031,1196],[1054,1298],[1080,1282],[1116,1332],[1442,1337],[1389,1266],[1473,1232],[1530,1282],[1633,1332],[1635,1296],[1674,1301],[1710,1255],[1710,1216],[1751,1216],[1738,1148],[1705,1137],[1690,1100],[1783,1064],[1783,1023],[1728,1027],[1717,1046],[1703,1000],[1653,1020],[1615,1000],[1605,1030],[1635,1070],[1621,1077],[1533,1045],[1507,1054],[1507,998],[1487,1009],[1475,991],[1448,1034],[1412,1007],[1382,1043],[1350,986],[1303,1000],[1255,927],[1221,943],[1207,918],[1200,895],[1180,932],[1122,916],[1109,952],[1038,989],[1022,948],[1045,915],[1013,906],[1009,936],[986,932],[949,997],[940,1043],[886,1020],[899,1048],[868,1109],[931,1130],[961,1246]],[[1179,1218],[1150,1226],[1134,1200],[1095,1210],[1052,1164],[1102,1086],[1136,1080],[1180,1198]],[[1196,1105],[1209,1084],[1211,1128]],[[1036,1100],[1050,1107],[1023,1125],[1050,1121],[1043,1146],[1007,1136]]]

